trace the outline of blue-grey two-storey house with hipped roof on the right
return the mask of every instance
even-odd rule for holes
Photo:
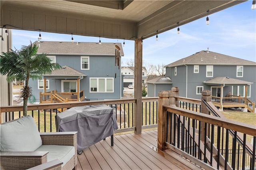
[[[256,62],[212,51],[200,51],[166,65],[166,76],[172,80],[169,90],[178,87],[179,96],[195,99],[201,99],[202,90],[210,90],[212,96],[225,97],[230,92],[234,96],[247,96],[254,102],[255,73]],[[148,87],[150,90],[154,88]]]

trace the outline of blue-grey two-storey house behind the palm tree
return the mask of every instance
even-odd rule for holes
[[[40,46],[38,54],[46,53],[52,62],[62,66],[62,69],[42,76],[42,80],[30,80],[36,102],[39,101],[40,92],[44,92],[44,79],[46,79],[47,92],[83,91],[86,100],[110,100],[122,97],[121,66],[116,64],[115,59],[115,45],[120,47],[120,55],[124,55],[121,43],[54,41],[34,43]]]

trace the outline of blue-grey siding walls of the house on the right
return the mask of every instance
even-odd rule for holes
[[[211,86],[203,82],[214,77],[224,76],[252,82],[253,84],[250,85],[250,97],[248,99],[252,102],[256,101],[256,66],[243,65],[243,77],[236,77],[236,66],[237,65],[213,65],[213,77],[206,77],[206,65],[199,65],[199,73],[194,73],[194,65],[188,65],[187,97],[201,99],[201,95],[196,94],[196,86],[203,86],[204,90],[211,90]],[[176,76],[174,75],[174,67],[166,67],[166,76],[170,76],[172,79],[172,87],[178,87],[180,89],[179,95],[186,97],[186,66],[177,66]],[[229,91],[232,91],[232,86],[225,85],[223,96],[226,96]]]

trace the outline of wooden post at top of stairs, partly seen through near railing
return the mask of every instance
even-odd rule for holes
[[[203,90],[202,91],[202,100],[204,100],[205,102],[210,102],[211,101],[211,91],[210,90]],[[208,115],[209,111],[207,110],[207,107],[206,105],[201,102],[201,113],[205,113]],[[204,134],[204,131],[205,131],[205,125],[204,123],[201,124],[201,129],[200,129],[200,133],[201,134]],[[207,134],[208,136],[208,131],[207,131]],[[201,135],[200,136],[200,140],[201,141],[204,141],[204,135]]]

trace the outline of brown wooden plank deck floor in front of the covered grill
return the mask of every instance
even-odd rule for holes
[[[114,146],[110,137],[85,149],[78,155],[77,170],[105,169],[202,169],[175,152],[157,149],[157,130],[143,131],[141,135],[128,133],[114,136]]]

